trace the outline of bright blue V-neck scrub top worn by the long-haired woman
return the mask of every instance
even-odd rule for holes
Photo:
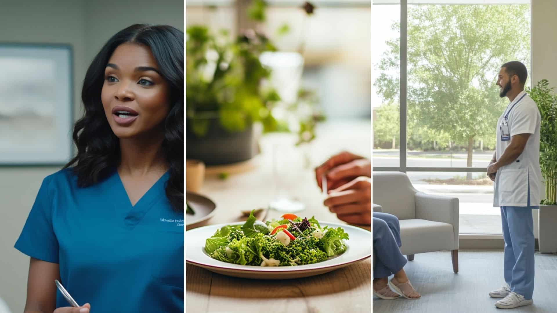
[[[184,214],[170,206],[168,179],[131,206],[116,170],[87,188],[71,169],[52,174],[15,248],[58,263],[62,285],[91,312],[183,312]],[[62,306],[70,305],[57,291]]]

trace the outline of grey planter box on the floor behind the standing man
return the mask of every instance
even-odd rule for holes
[[[538,212],[538,243],[541,253],[557,252],[557,206],[540,206]]]

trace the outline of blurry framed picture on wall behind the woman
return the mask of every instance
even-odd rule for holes
[[[0,42],[0,166],[69,162],[72,59],[67,45]]]

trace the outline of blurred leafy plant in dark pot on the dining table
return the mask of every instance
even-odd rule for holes
[[[248,16],[264,21],[265,8],[256,0]],[[270,84],[271,67],[261,63],[262,53],[277,51],[263,32],[250,29],[230,40],[226,31],[215,35],[205,26],[190,26],[186,36],[188,159],[217,165],[252,158],[259,123],[263,133],[297,133],[298,144],[315,138],[315,124],[324,119],[316,110],[317,97],[300,89],[294,101],[281,101]]]

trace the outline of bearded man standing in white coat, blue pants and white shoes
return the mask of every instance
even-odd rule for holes
[[[501,66],[497,85],[510,104],[497,121],[496,151],[487,168],[505,239],[506,285],[489,293],[504,298],[495,303],[500,309],[530,305],[534,293],[532,208],[540,203],[540,111],[524,91],[526,77],[519,61]]]

